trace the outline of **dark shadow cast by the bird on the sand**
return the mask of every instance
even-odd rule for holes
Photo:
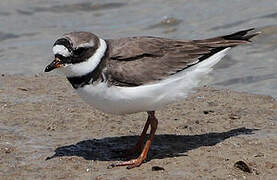
[[[226,132],[211,132],[200,135],[156,135],[151,145],[148,160],[167,157],[187,156],[189,150],[202,146],[214,146],[230,137],[254,134],[258,129],[237,128]],[[124,158],[126,149],[130,149],[139,136],[106,137],[102,139],[83,140],[76,144],[61,146],[53,156],[46,160],[62,156],[78,156],[86,160],[118,161]]]

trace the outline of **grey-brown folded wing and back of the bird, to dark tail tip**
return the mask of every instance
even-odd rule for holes
[[[167,78],[215,53],[250,42],[253,29],[204,40],[179,41],[156,37],[107,40],[108,80],[118,86],[139,86]]]

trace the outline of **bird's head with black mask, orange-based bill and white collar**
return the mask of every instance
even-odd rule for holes
[[[105,50],[105,41],[92,33],[71,32],[65,34],[54,43],[55,59],[44,71],[50,72],[59,68],[68,77],[82,76],[95,68],[94,64],[99,63]]]

